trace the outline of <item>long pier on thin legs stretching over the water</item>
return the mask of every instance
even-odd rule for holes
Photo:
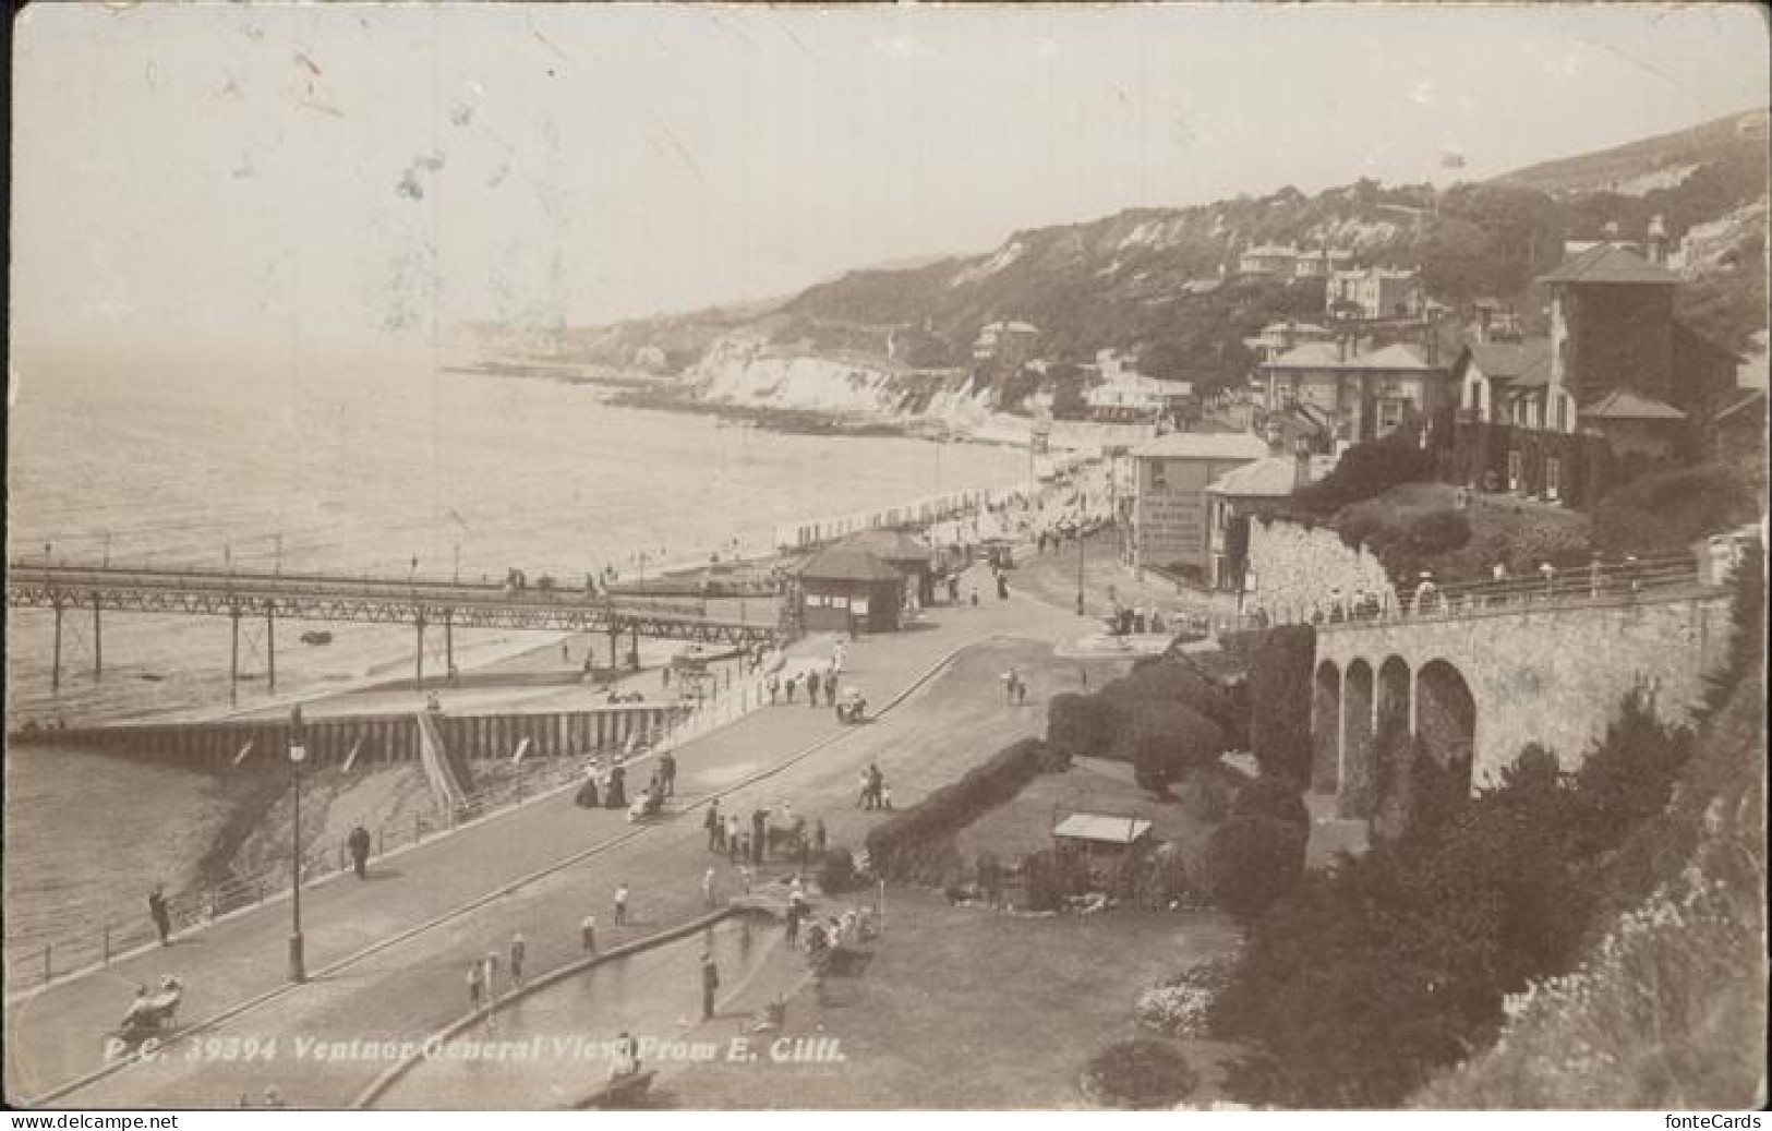
[[[376,578],[323,573],[241,573],[206,569],[136,569],[82,564],[11,562],[9,608],[48,608],[55,613],[51,688],[62,681],[62,619],[92,613],[92,670],[103,674],[105,612],[229,617],[232,620],[230,690],[237,700],[239,622],[262,619],[269,654],[269,690],[276,690],[276,620],[337,620],[411,624],[416,633],[415,674],[425,675],[425,629],[443,629],[445,663],[454,667],[457,628],[498,628],[567,633],[608,633],[610,667],[618,665],[618,642],[631,635],[700,644],[776,644],[774,610],[767,620],[709,613],[709,601],[661,601],[588,589],[509,589],[431,578]]]

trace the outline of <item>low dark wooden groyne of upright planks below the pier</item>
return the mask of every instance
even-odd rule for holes
[[[454,714],[434,713],[452,759],[512,757],[528,739],[525,759],[620,750],[652,741],[682,716],[672,704],[611,704],[583,711]],[[636,737],[638,736],[638,737]],[[165,760],[191,769],[285,766],[289,725],[284,720],[204,723],[119,723],[14,730],[9,745],[80,746],[124,757]],[[381,766],[418,760],[420,725],[411,711],[307,718],[303,745],[308,766]]]

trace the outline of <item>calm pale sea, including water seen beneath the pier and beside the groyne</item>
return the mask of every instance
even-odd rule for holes
[[[579,585],[602,566],[636,576],[766,553],[780,525],[1005,486],[1028,468],[1008,447],[781,434],[615,408],[594,385],[457,372],[462,360],[383,349],[14,362],[7,557],[493,581],[519,567],[532,581]],[[299,644],[307,629],[331,644]],[[101,633],[96,675],[90,615],[64,619],[55,691],[51,615],[7,610],[9,732],[25,720],[230,709],[227,619],[105,613]],[[266,644],[262,624],[243,624],[241,709],[269,700]],[[457,663],[528,644],[457,633]],[[276,628],[280,697],[404,675],[411,663],[409,626]],[[85,922],[80,906],[138,904],[142,867],[105,862],[151,865],[156,828],[207,823],[220,805],[202,775],[78,750],[9,748],[5,775],[9,968],[50,931],[34,908],[55,904],[66,929]],[[122,872],[131,886],[117,890]]]

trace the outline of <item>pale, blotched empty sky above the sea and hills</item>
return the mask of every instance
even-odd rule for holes
[[[436,340],[1480,179],[1767,103],[1754,5],[34,5],[14,342]]]

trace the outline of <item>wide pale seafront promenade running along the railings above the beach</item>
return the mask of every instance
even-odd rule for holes
[[[980,590],[989,592],[983,581]],[[578,957],[587,913],[597,915],[602,947],[700,915],[700,876],[712,860],[702,803],[711,796],[727,794],[723,808],[741,814],[790,800],[796,812],[826,815],[833,844],[859,844],[879,819],[852,808],[856,776],[870,760],[881,764],[900,807],[914,803],[1003,741],[1042,730],[1045,697],[1076,681],[1076,661],[1051,659],[1053,642],[1079,631],[1063,610],[987,597],[978,608],[929,610],[925,619],[913,631],[849,649],[845,682],[863,688],[874,707],[914,693],[904,709],[872,725],[838,727],[829,709],[780,706],[703,736],[679,750],[679,803],[664,821],[633,826],[622,814],[578,810],[562,792],[392,854],[369,881],[342,878],[305,890],[305,986],[284,980],[289,908],[278,901],[9,1003],[7,1097],[227,1106],[275,1085],[296,1106],[344,1104],[388,1064],[319,1060],[303,1053],[305,1041],[424,1039],[464,1012],[468,963],[503,954],[512,931],[528,940],[533,977]],[[828,638],[813,638],[794,654],[828,649]],[[957,659],[929,679],[950,658]],[[1031,675],[1026,707],[1003,706],[998,672],[1006,663]],[[734,870],[718,867],[721,890],[735,892]],[[787,870],[778,863],[760,879]],[[634,922],[618,929],[610,897],[624,881]],[[105,1071],[105,1032],[133,987],[161,973],[184,982],[181,1025],[198,1032],[156,1060]],[[695,987],[659,991],[688,1002]],[[246,1058],[253,1039],[260,1053],[273,1041],[275,1048]]]

